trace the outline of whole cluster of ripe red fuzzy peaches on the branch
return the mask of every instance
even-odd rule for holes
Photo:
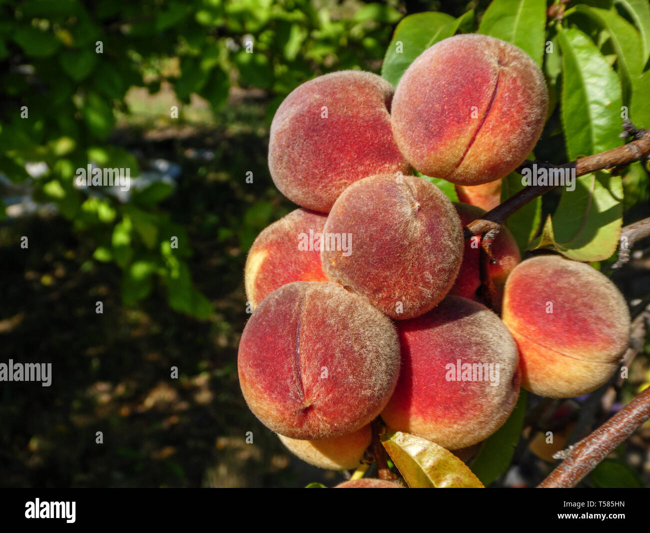
[[[480,244],[463,238],[484,211],[413,175],[499,180],[546,114],[534,61],[477,34],[424,51],[395,90],[343,71],[281,103],[268,166],[301,207],[248,254],[238,367],[248,406],[298,457],[356,468],[378,416],[459,450],[502,426],[520,386],[571,398],[615,372],[630,318],[610,280],[558,255],[521,262],[503,228],[487,272],[499,317],[483,305]]]

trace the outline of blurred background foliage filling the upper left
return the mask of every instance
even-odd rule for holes
[[[107,189],[75,186],[77,169],[140,173],[110,137],[131,87],[155,93],[167,81],[181,102],[199,94],[214,108],[233,84],[257,87],[272,116],[314,74],[376,70],[400,18],[390,5],[361,1],[0,1],[0,171],[35,200],[55,202],[96,243],[94,258],[122,269],[125,303],[159,280],[172,308],[208,318],[213,307],[192,282],[187,234],[161,206],[174,187],[155,182],[122,202]],[[32,178],[25,165],[33,162],[44,162],[45,174]]]

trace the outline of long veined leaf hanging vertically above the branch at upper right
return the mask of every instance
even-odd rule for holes
[[[564,56],[562,126],[571,159],[621,143],[621,85],[593,41],[578,29],[560,29]]]

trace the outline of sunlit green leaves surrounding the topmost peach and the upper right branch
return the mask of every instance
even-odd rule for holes
[[[455,33],[476,31],[511,42],[542,69],[549,87],[549,118],[535,148],[541,161],[562,164],[616,148],[623,118],[650,128],[650,5],[645,0],[585,0],[565,8],[556,2],[549,18],[545,0],[494,0],[478,27],[474,13],[413,14],[397,25],[382,75],[396,85],[424,49]],[[432,178],[452,200],[453,187]],[[502,200],[523,188],[513,172],[503,180]],[[576,180],[575,191],[560,188],[506,222],[522,250],[551,248],[596,262],[616,252],[623,213],[648,195],[642,163],[621,176],[595,172]],[[545,218],[544,218],[545,217]],[[543,224],[542,224],[543,222]]]

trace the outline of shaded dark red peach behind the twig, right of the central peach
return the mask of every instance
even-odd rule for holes
[[[454,202],[454,207],[460,216],[461,225],[466,226],[474,219],[484,215],[486,212],[479,207]],[[505,226],[501,226],[499,235],[492,243],[492,253],[497,260],[495,264],[489,264],[487,271],[495,286],[495,298],[500,302],[503,297],[503,289],[506,285],[508,275],[512,269],[521,262],[521,254],[517,241],[512,233]],[[478,289],[481,286],[480,279],[480,240],[465,240],[465,251],[463,251],[463,262],[456,282],[449,294],[463,296],[479,303],[484,303]]]

